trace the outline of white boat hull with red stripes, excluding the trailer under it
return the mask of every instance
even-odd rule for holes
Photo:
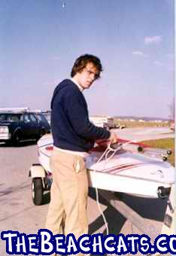
[[[106,152],[105,157],[99,161],[105,151],[103,142],[96,144],[86,157],[90,187],[103,190],[117,191],[139,197],[158,198],[166,197],[174,184],[174,167],[168,163],[167,154],[171,151],[151,153],[135,142],[121,143],[117,149]],[[53,150],[51,135],[43,136],[38,141],[38,159],[45,170],[43,185],[50,187],[50,154]],[[145,154],[146,152],[146,154]],[[114,154],[115,153],[115,154]],[[111,154],[114,154],[113,157]],[[166,154],[166,155],[165,155]],[[159,157],[161,155],[161,157]],[[99,162],[99,163],[98,163]],[[35,168],[31,169],[35,178]],[[35,184],[34,184],[35,186]]]

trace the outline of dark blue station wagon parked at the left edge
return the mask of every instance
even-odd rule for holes
[[[50,124],[44,114],[32,111],[0,111],[0,142],[13,142],[23,139],[40,139],[50,133]]]

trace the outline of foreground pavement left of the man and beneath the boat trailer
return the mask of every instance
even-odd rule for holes
[[[31,179],[29,168],[38,163],[35,142],[25,142],[18,148],[0,145],[1,181],[0,181],[0,231],[18,230],[20,233],[37,233],[44,228],[50,194],[45,194],[44,205],[34,206],[31,198]],[[165,200],[143,200],[137,197],[123,197],[147,221],[159,230],[165,211]],[[110,233],[140,233],[130,221],[126,221],[119,212],[102,202],[102,209],[108,220]],[[87,206],[90,220],[90,233],[105,233],[105,225],[96,205],[95,191],[90,190]],[[0,240],[0,255],[7,255],[5,242]]]

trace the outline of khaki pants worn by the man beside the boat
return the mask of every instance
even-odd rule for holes
[[[73,233],[77,239],[83,233],[88,233],[85,161],[83,157],[54,149],[50,164],[53,183],[46,228],[54,235]]]

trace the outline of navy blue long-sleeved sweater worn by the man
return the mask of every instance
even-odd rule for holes
[[[53,145],[87,152],[96,139],[108,139],[110,133],[89,120],[86,100],[76,84],[65,79],[54,90],[51,101]]]

